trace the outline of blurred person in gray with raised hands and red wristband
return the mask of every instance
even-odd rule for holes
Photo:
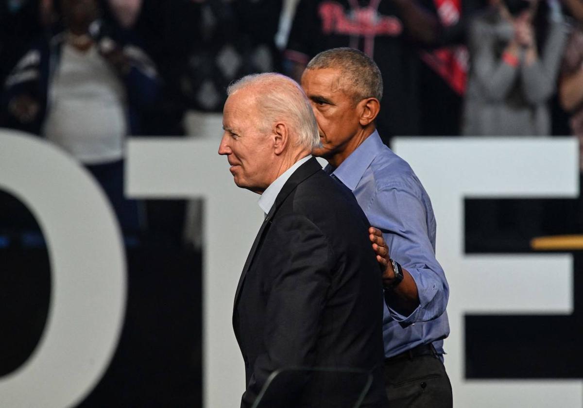
[[[558,0],[491,0],[470,24],[464,135],[549,135],[566,25]]]

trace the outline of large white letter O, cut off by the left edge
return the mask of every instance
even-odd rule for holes
[[[52,283],[43,336],[29,360],[0,379],[0,406],[75,405],[103,375],[121,332],[126,275],[117,220],[78,163],[24,133],[0,130],[0,189],[36,217]]]

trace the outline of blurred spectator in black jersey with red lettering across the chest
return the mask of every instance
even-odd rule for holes
[[[420,134],[417,52],[437,44],[433,0],[301,0],[285,50],[287,72],[299,79],[318,52],[351,47],[373,58],[384,82],[377,120],[385,143],[394,135]]]

